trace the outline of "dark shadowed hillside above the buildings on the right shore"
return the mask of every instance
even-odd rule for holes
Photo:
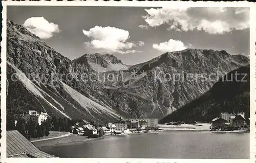
[[[237,74],[237,75],[236,75]],[[236,77],[237,76],[237,77]],[[220,112],[250,115],[250,66],[231,71],[200,98],[164,117],[160,122],[210,122]]]

